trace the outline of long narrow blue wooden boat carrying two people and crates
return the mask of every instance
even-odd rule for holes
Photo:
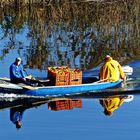
[[[1,93],[16,93],[25,94],[31,96],[48,96],[48,95],[65,95],[75,93],[85,93],[91,91],[100,91],[104,89],[114,88],[120,86],[122,80],[117,82],[94,82],[80,85],[65,85],[65,86],[44,86],[44,87],[32,87],[28,85],[12,84],[12,83],[0,83]]]

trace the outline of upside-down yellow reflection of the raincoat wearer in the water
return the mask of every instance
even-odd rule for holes
[[[104,107],[105,115],[112,116],[113,112],[120,108],[124,103],[124,98],[115,97],[100,100],[100,104]]]

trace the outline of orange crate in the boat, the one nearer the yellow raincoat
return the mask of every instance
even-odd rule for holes
[[[69,77],[69,85],[82,84],[82,71],[71,71]]]

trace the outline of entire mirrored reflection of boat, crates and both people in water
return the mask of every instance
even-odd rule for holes
[[[38,99],[38,98],[26,98],[16,99],[13,101],[0,100],[0,109],[10,108],[10,121],[15,125],[17,129],[22,127],[23,115],[26,110],[31,108],[37,108],[38,106],[47,104],[48,110],[61,111],[72,110],[75,108],[81,109],[83,107],[84,98],[72,99],[72,98],[52,98],[52,99]],[[91,99],[89,99],[91,100]],[[92,99],[95,100],[95,99]],[[113,112],[119,109],[125,102],[133,100],[133,95],[120,95],[111,96],[106,98],[98,98],[100,105],[104,109],[106,116],[112,116]],[[87,100],[88,101],[88,100]]]

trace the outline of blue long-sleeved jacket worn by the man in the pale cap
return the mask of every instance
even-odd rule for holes
[[[14,80],[16,78],[25,78],[25,72],[23,71],[22,65],[17,66],[16,63],[13,63],[10,66],[10,79]]]

